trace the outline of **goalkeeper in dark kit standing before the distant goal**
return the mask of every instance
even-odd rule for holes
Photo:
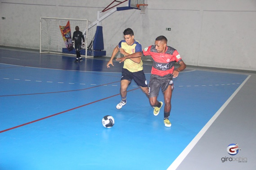
[[[83,43],[82,43],[82,39],[83,39]],[[72,45],[73,46],[74,46],[74,43],[75,43],[75,53],[76,53],[75,62],[81,62],[81,61],[83,61],[83,59],[81,57],[80,50],[81,50],[82,46],[84,47],[84,35],[81,31],[79,31],[79,26],[75,26],[75,31],[74,31],[73,37],[72,37]]]

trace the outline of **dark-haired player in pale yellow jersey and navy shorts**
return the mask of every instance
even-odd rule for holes
[[[141,44],[134,39],[134,34],[132,29],[127,28],[124,30],[124,40],[120,41],[119,44],[114,48],[112,56],[107,63],[107,68],[110,68],[110,64],[113,65],[113,59],[117,52],[120,51],[123,55],[130,55],[135,52],[141,52]],[[126,59],[124,61],[124,67],[122,68],[122,77],[121,77],[121,87],[120,95],[121,102],[116,105],[117,109],[121,109],[126,104],[126,95],[128,85],[131,83],[132,79],[141,87],[141,90],[146,93],[146,96],[149,96],[149,88],[147,85],[146,77],[143,71],[143,62],[141,57],[134,59]]]

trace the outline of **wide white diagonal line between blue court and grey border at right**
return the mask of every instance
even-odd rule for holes
[[[201,139],[203,134],[207,131],[207,129],[212,125],[212,123],[217,119],[217,117],[221,114],[221,112],[225,109],[225,107],[230,103],[230,101],[235,97],[238,91],[243,87],[246,81],[250,78],[251,75],[243,81],[243,83],[236,89],[236,91],[230,96],[230,98],[221,106],[221,108],[212,116],[212,118],[205,124],[205,126],[201,129],[201,131],[194,137],[194,139],[187,145],[187,147],[181,152],[181,154],[172,162],[172,164],[168,167],[167,170],[176,170],[177,167],[181,164],[181,162],[185,159],[185,157],[190,153],[190,151],[194,148],[195,144]]]

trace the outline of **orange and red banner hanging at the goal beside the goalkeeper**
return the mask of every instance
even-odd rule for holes
[[[73,46],[72,46],[71,29],[70,29],[69,21],[67,21],[66,26],[60,26],[60,30],[62,32],[62,38],[64,40],[66,48],[68,49],[68,51],[72,51]]]

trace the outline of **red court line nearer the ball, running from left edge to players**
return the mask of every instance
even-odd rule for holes
[[[136,88],[136,89],[140,89],[140,87],[138,87],[138,88]],[[131,89],[131,90],[128,90],[127,92],[130,92],[130,91],[136,90],[136,89]],[[84,105],[82,105],[82,106],[74,107],[74,108],[72,108],[72,109],[65,110],[65,111],[62,111],[62,112],[59,112],[59,113],[56,113],[56,114],[53,114],[53,115],[49,115],[49,116],[46,116],[46,117],[41,118],[41,119],[33,120],[33,121],[31,121],[31,122],[28,122],[28,123],[24,123],[24,124],[15,126],[15,127],[11,127],[11,128],[9,128],[9,129],[5,129],[5,130],[3,130],[3,131],[0,131],[0,133],[6,132],[6,131],[9,131],[9,130],[12,130],[12,129],[16,129],[16,128],[18,128],[18,127],[22,127],[22,126],[25,126],[25,125],[28,125],[28,124],[31,124],[31,123],[35,123],[35,122],[38,122],[38,121],[40,121],[40,120],[44,120],[44,119],[47,119],[47,118],[50,118],[50,117],[53,117],[53,116],[56,116],[56,115],[60,115],[60,114],[62,114],[62,113],[66,113],[66,112],[68,112],[68,111],[75,110],[75,109],[78,109],[78,108],[80,108],[80,107],[84,107],[84,106],[87,106],[87,105],[90,105],[90,104],[93,104],[93,103],[96,103],[96,102],[100,102],[100,101],[102,101],[102,100],[105,100],[105,99],[108,99],[108,98],[112,98],[112,97],[115,97],[115,96],[118,96],[118,95],[120,95],[120,94],[115,94],[115,95],[113,95],[113,96],[110,96],[110,97],[107,97],[107,98],[102,98],[102,99],[100,99],[100,100],[96,100],[96,101],[94,101],[94,102],[90,102],[90,103],[84,104]]]

